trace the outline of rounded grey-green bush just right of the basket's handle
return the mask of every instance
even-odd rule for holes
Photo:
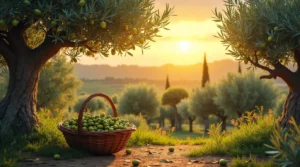
[[[152,85],[136,84],[125,86],[118,105],[120,114],[143,115],[153,118],[158,115],[157,90]]]

